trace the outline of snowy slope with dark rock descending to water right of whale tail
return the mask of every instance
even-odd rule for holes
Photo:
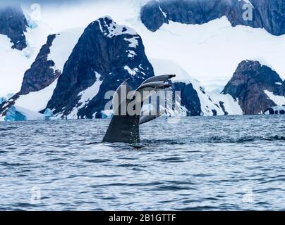
[[[190,115],[242,115],[243,111],[229,94],[209,92],[202,88],[198,80],[188,75],[171,60],[150,58],[155,75],[175,74],[173,81],[176,91],[181,91],[182,105]],[[193,94],[194,93],[194,94]]]

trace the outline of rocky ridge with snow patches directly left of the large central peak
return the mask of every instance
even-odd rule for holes
[[[24,74],[20,91],[10,96],[8,103],[2,106],[2,115],[7,113],[11,105],[33,112],[46,108],[63,71],[63,65],[82,33],[83,29],[75,28],[47,37],[47,43],[42,46],[35,62]]]

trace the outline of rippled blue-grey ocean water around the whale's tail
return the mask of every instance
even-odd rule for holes
[[[176,122],[176,123],[174,123]],[[0,123],[0,210],[285,210],[285,117]]]

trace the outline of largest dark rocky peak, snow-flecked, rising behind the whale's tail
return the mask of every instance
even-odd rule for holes
[[[115,91],[127,78],[128,84],[136,88],[153,75],[140,36],[109,17],[99,18],[85,29],[75,45],[47,108],[62,117],[75,108],[78,117],[102,117],[101,111],[109,102],[104,99],[107,91]],[[102,84],[97,95],[80,102],[80,93],[98,81]]]

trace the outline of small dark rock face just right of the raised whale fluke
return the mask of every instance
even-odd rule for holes
[[[181,91],[181,105],[188,110],[188,116],[202,114],[200,99],[192,84],[175,82],[174,91]]]

